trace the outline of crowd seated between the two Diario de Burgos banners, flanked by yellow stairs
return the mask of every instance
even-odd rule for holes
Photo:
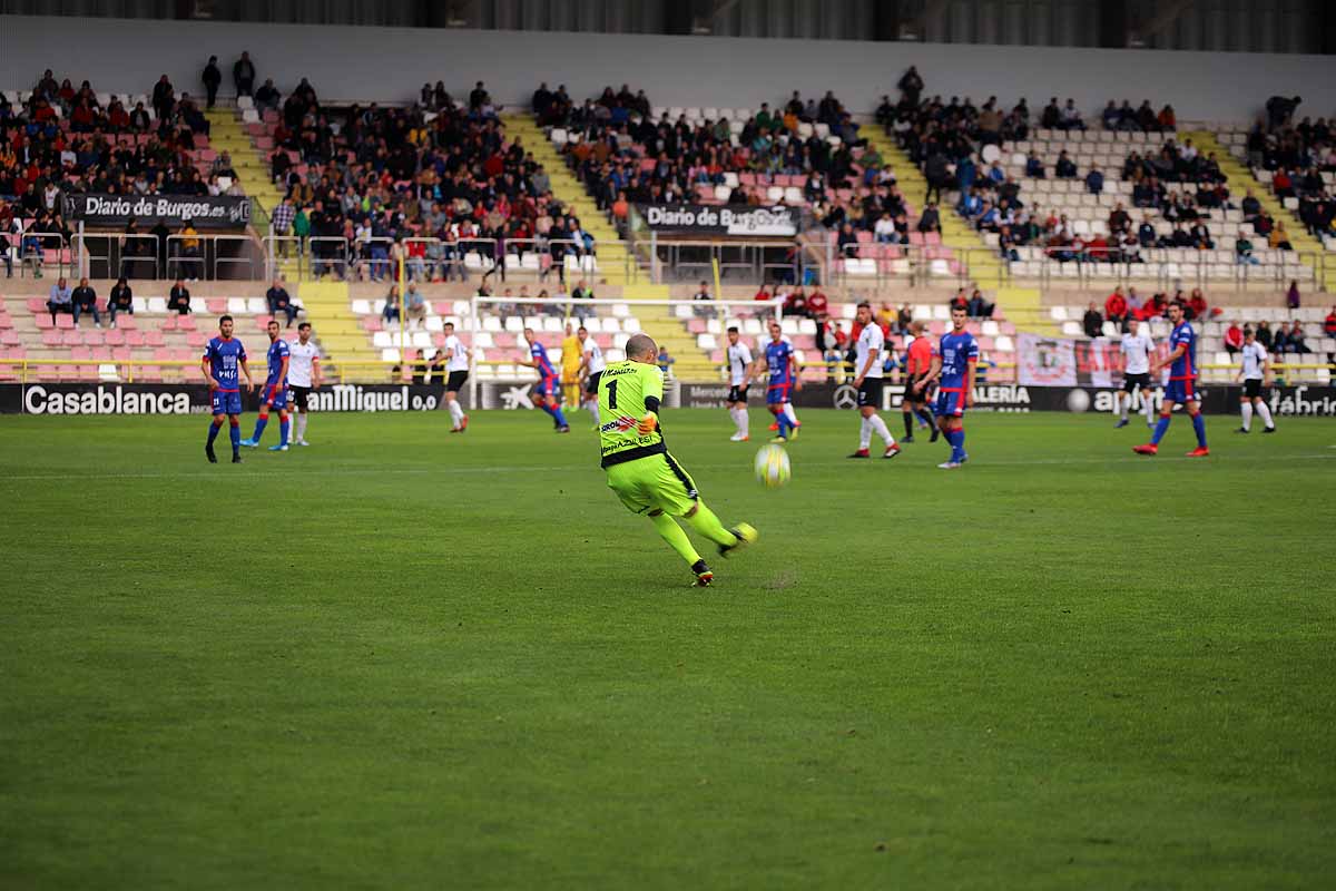
[[[476,251],[504,279],[508,258],[536,251],[544,274],[553,269],[564,281],[568,254],[596,251],[580,219],[553,198],[542,166],[506,138],[482,81],[466,103],[438,81],[424,84],[407,108],[326,108],[303,80],[283,102],[273,138],[271,174],[285,194],[274,232],[302,239],[299,247],[319,239],[310,242],[317,274],[342,273],[347,262],[353,274],[379,281],[402,256],[414,281],[464,279],[464,255]],[[323,239],[345,239],[347,255]]]

